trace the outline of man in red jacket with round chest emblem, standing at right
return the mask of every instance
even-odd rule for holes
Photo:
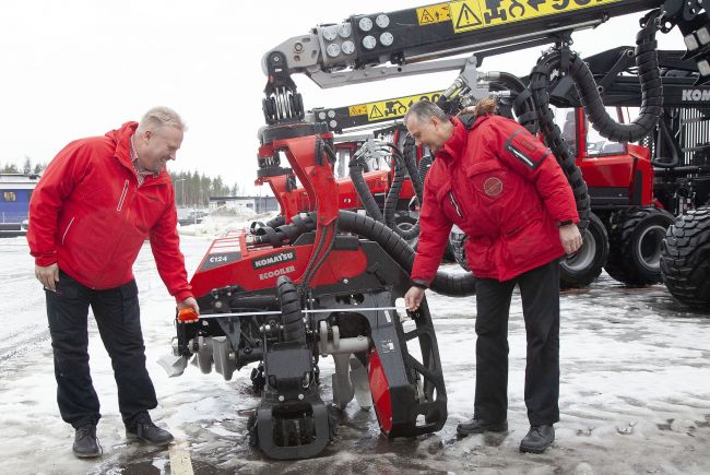
[[[493,99],[476,106],[472,127],[428,102],[404,123],[436,154],[424,187],[413,286],[404,300],[418,308],[441,261],[452,224],[466,235],[476,276],[474,416],[459,435],[508,430],[508,314],[520,286],[528,359],[525,405],[530,430],[522,452],[542,453],[559,420],[558,258],[582,244],[575,198],[555,157],[516,121],[495,116]]]

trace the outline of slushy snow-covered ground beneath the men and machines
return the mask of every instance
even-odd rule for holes
[[[198,235],[200,233],[197,233]],[[182,237],[191,273],[210,240]],[[0,240],[0,300],[8,334],[0,341],[0,460],[3,474],[168,474],[189,453],[196,474],[229,473],[710,473],[710,316],[681,309],[662,286],[627,289],[605,274],[590,288],[563,296],[561,421],[542,455],[521,454],[528,429],[522,401],[524,328],[520,300],[510,321],[510,430],[457,439],[455,425],[473,408],[473,298],[429,296],[445,364],[449,418],[438,434],[389,441],[372,412],[353,402],[339,435],[313,460],[271,462],[246,441],[237,413],[259,400],[249,371],[232,381],[190,366],[169,379],[156,364],[174,336],[174,304],[146,247],[134,271],[141,292],[149,370],[161,405],[153,411],[177,442],[170,450],[127,443],[110,361],[90,324],[91,364],[103,419],[104,456],[80,461],[73,432],[55,401],[44,295],[24,238]],[[332,359],[323,360],[324,400]]]

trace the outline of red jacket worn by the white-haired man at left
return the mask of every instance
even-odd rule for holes
[[[106,289],[133,278],[150,237],[157,270],[178,301],[191,297],[179,249],[175,191],[166,170],[138,187],[130,154],[137,122],[71,142],[29,201],[27,241],[37,265],[55,262],[81,284]]]

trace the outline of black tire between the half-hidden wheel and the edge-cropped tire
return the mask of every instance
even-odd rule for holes
[[[612,215],[604,269],[627,285],[661,282],[661,250],[675,217],[658,207],[635,207]]]

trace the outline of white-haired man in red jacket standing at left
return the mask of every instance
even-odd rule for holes
[[[44,285],[55,356],[57,403],[75,429],[76,456],[102,454],[99,403],[88,369],[88,307],[111,358],[127,437],[166,446],[153,424],[157,406],[145,369],[132,265],[146,238],[178,309],[199,311],[179,249],[175,191],[165,164],[175,159],[185,124],[156,107],[140,123],[71,142],[51,161],[29,202],[27,241]]]

